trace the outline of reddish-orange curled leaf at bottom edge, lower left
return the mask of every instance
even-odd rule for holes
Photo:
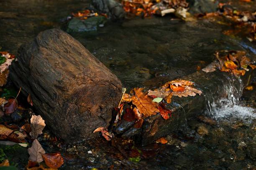
[[[59,153],[42,154],[42,156],[44,162],[49,166],[49,168],[57,169],[64,163],[63,158]]]

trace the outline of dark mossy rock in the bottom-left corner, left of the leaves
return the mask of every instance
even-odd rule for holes
[[[24,168],[28,164],[28,149],[20,145],[0,145],[0,161],[8,159],[10,166],[18,169]],[[2,170],[2,169],[0,169]]]

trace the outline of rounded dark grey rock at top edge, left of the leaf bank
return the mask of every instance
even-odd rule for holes
[[[90,8],[97,13],[106,13],[111,20],[121,20],[125,17],[123,5],[116,0],[92,0]]]

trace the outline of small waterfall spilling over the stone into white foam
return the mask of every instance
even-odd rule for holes
[[[239,105],[239,100],[243,93],[243,82],[234,76],[225,75],[223,86],[218,90],[218,94],[207,97],[207,107],[205,114],[214,119],[240,117],[242,119],[256,118],[255,109]]]

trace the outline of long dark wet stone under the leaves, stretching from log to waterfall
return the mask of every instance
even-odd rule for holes
[[[154,140],[186,126],[187,120],[202,115],[210,103],[218,104],[218,100],[228,98],[229,95],[241,95],[229,94],[229,91],[236,88],[231,91],[238,90],[239,93],[239,89],[242,90],[247,83],[251,82],[252,79],[249,76],[254,77],[254,74],[255,70],[246,72],[246,75],[240,77],[241,81],[234,75],[219,70],[208,73],[200,70],[184,76],[181,79],[195,82],[195,88],[202,90],[201,95],[181,98],[173,96],[172,103],[166,105],[168,109],[172,110],[172,116],[169,119],[165,120],[160,114],[151,115],[151,117],[145,118],[142,127],[136,130],[132,126],[125,126],[127,121],[121,120],[120,124],[114,128],[114,132],[124,138],[134,138],[142,145],[152,143]],[[219,104],[221,105],[221,103]]]

